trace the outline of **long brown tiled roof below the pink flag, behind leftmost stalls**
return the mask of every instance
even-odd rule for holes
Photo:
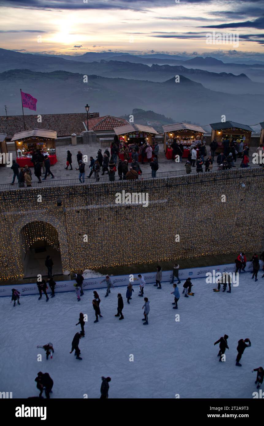
[[[93,112],[96,117],[99,117],[99,112]],[[68,113],[68,114],[41,114],[41,123],[37,121],[37,115],[25,115],[26,130],[30,129],[46,129],[57,132],[57,137],[70,136],[73,133],[79,135],[84,127],[84,120],[87,118],[86,112]],[[23,115],[6,115],[0,116],[0,133],[6,133],[7,139],[11,140],[13,135],[18,132],[23,132]]]

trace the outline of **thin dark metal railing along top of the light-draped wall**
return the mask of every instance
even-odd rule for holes
[[[236,164],[234,167],[230,167],[229,169],[226,169],[226,171],[229,170],[250,170],[250,169],[260,169],[260,166],[262,166],[262,168],[264,167],[264,165],[261,164],[253,164],[253,163],[249,163],[249,167],[247,168],[242,168],[241,169],[241,164]],[[219,170],[218,166],[214,166],[212,167],[212,169],[210,169],[209,171],[205,172],[205,168],[203,167],[203,173],[205,173],[206,175],[214,173],[214,172],[218,172],[218,173],[224,173],[225,170]],[[201,173],[201,172],[200,172]],[[157,178],[169,178],[169,177],[177,177],[177,176],[191,176],[191,175],[197,175],[199,173],[197,173],[196,171],[196,167],[193,167],[191,169],[191,173],[186,173],[186,170],[173,170],[171,172],[157,172],[156,173],[156,179]],[[123,178],[123,176],[122,176]],[[151,179],[151,173],[144,173],[141,175],[138,175],[138,179],[139,180],[146,180],[146,179]],[[115,181],[119,181],[121,180],[119,178],[119,175],[116,172],[116,175],[114,176],[114,180]],[[131,179],[130,179],[131,180]],[[57,187],[57,186],[65,186],[65,185],[81,185],[81,184],[100,184],[102,182],[111,182],[109,180],[109,176],[108,174],[106,176],[102,176],[99,175],[99,181],[98,178],[88,178],[87,176],[85,176],[84,178],[84,182],[80,182],[78,178],[75,179],[50,179],[50,180],[45,180],[45,181],[41,181],[41,183],[38,183],[38,181],[32,181],[31,182],[31,187],[26,187],[26,184],[24,184],[25,186],[20,187],[21,184],[15,182],[13,185],[12,184],[0,184],[0,190],[13,190],[13,189],[31,189],[31,188],[43,188],[43,187]]]

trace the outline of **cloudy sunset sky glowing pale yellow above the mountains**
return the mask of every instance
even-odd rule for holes
[[[170,53],[264,60],[264,0],[0,0],[0,47],[20,52]],[[208,32],[239,46],[206,44]]]

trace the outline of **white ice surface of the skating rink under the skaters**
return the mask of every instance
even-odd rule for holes
[[[0,297],[0,391],[13,392],[13,398],[38,395],[35,377],[48,372],[54,380],[52,398],[100,397],[101,376],[110,376],[109,398],[252,398],[256,390],[253,368],[264,367],[264,278],[241,273],[232,293],[220,293],[194,279],[194,296],[183,297],[179,285],[178,310],[172,309],[172,285],[162,283],[158,290],[145,286],[150,301],[149,325],[142,325],[144,300],[134,285],[130,305],[126,287],[99,290],[103,318],[94,324],[93,291],[84,291],[81,302],[75,292],[20,297],[13,307],[11,298]],[[227,287],[228,290],[228,287]],[[117,294],[124,300],[125,319],[119,321]],[[70,354],[71,342],[81,328],[79,313],[87,314],[85,337],[80,340],[81,361]],[[175,321],[180,314],[180,321]],[[219,345],[214,342],[229,335],[226,362],[218,362]],[[239,339],[249,337],[252,346],[235,366]],[[46,360],[37,345],[53,343],[53,359]],[[38,362],[38,354],[42,361]],[[133,362],[129,359],[133,355]],[[261,386],[263,389],[263,385]]]

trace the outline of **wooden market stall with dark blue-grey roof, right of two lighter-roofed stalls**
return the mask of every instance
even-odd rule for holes
[[[226,121],[225,123],[212,123],[212,138],[218,143],[217,152],[223,150],[223,140],[227,137],[231,142],[234,138],[237,142],[244,142],[244,146],[250,146],[251,133],[254,132],[251,127],[246,124],[235,123],[234,121]]]

